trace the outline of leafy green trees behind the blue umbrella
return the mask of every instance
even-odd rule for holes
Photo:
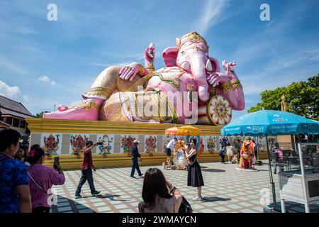
[[[266,90],[260,94],[262,101],[252,106],[248,113],[262,109],[281,110],[281,96],[286,96],[289,111],[293,114],[319,120],[319,74],[307,82],[293,82],[287,87]]]

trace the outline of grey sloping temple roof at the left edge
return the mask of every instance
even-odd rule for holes
[[[2,117],[27,118],[33,115],[21,102],[13,101],[0,95],[0,111]]]

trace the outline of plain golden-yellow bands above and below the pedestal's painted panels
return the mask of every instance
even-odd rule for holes
[[[164,135],[167,128],[182,126],[168,123],[133,123],[133,122],[108,122],[108,121],[75,121],[75,120],[57,120],[43,118],[26,118],[28,128],[31,133],[112,133],[135,135]],[[219,126],[196,126],[201,129],[201,135],[220,135]],[[218,141],[216,141],[218,143]],[[166,154],[162,152],[142,153],[142,162],[140,165],[162,165],[166,160]],[[59,155],[60,164],[63,169],[79,169],[82,165],[82,156],[77,155]],[[54,156],[47,157],[45,165],[53,166]],[[112,155],[92,155],[96,167],[123,167],[131,166],[132,159],[127,153],[116,153]],[[267,158],[267,152],[260,152],[259,159]],[[226,157],[227,160],[227,157]],[[209,153],[204,151],[198,162],[220,162],[218,152]]]

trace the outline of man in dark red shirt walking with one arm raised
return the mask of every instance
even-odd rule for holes
[[[86,149],[84,150],[83,164],[81,166],[82,177],[79,180],[79,184],[77,185],[77,191],[75,192],[75,199],[82,197],[80,195],[80,192],[81,192],[81,188],[82,188],[83,184],[86,182],[86,180],[87,180],[87,182],[89,182],[89,187],[91,189],[91,195],[94,196],[96,194],[100,194],[100,192],[96,191],[96,189],[94,187],[92,169],[95,172],[96,168],[93,165],[92,153],[91,153],[91,149],[94,148],[98,144],[99,143],[93,144],[93,142],[91,140],[89,140],[86,143]]]

